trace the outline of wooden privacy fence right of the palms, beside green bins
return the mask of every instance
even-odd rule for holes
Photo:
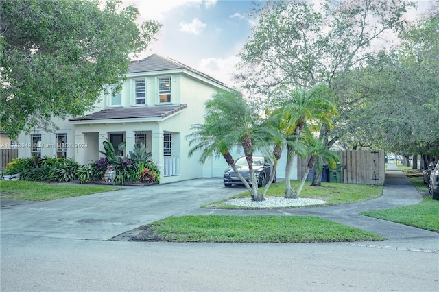
[[[335,151],[340,156],[341,181],[344,184],[384,184],[385,154],[380,151]],[[298,158],[298,180],[305,174],[308,160]],[[329,170],[329,176],[333,175]]]

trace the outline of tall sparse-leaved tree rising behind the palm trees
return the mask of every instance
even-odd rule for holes
[[[337,89],[344,74],[364,66],[386,32],[402,25],[408,1],[268,1],[257,11],[259,23],[239,54],[236,80],[253,97],[268,98],[279,88],[309,88],[324,83]],[[339,97],[340,95],[334,95]],[[337,100],[343,121],[346,99]],[[337,138],[326,125],[327,145]],[[316,178],[320,178],[316,175]],[[314,184],[314,182],[313,182]],[[320,184],[320,182],[315,182]]]

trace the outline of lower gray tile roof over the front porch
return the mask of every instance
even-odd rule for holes
[[[165,118],[187,108],[187,104],[172,106],[135,106],[131,108],[106,108],[99,112],[75,117],[69,121],[95,121],[106,119]]]

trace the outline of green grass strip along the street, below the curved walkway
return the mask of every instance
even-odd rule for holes
[[[383,237],[314,216],[182,216],[144,226],[132,241],[310,243],[381,241]],[[147,234],[147,237],[145,237]]]

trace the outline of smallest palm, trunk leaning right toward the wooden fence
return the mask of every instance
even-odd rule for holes
[[[330,151],[327,145],[324,143],[324,137],[316,138],[313,134],[306,129],[305,131],[305,140],[307,141],[307,154],[310,156],[307,164],[307,168],[305,169],[305,174],[302,178],[302,183],[300,184],[296,195],[294,195],[294,199],[297,199],[302,191],[303,185],[307,180],[309,171],[313,169],[314,166],[317,165],[317,171],[321,172],[323,168],[323,162],[327,161],[331,164],[333,168],[335,168],[335,164],[340,161],[340,157],[335,154],[335,152]]]

